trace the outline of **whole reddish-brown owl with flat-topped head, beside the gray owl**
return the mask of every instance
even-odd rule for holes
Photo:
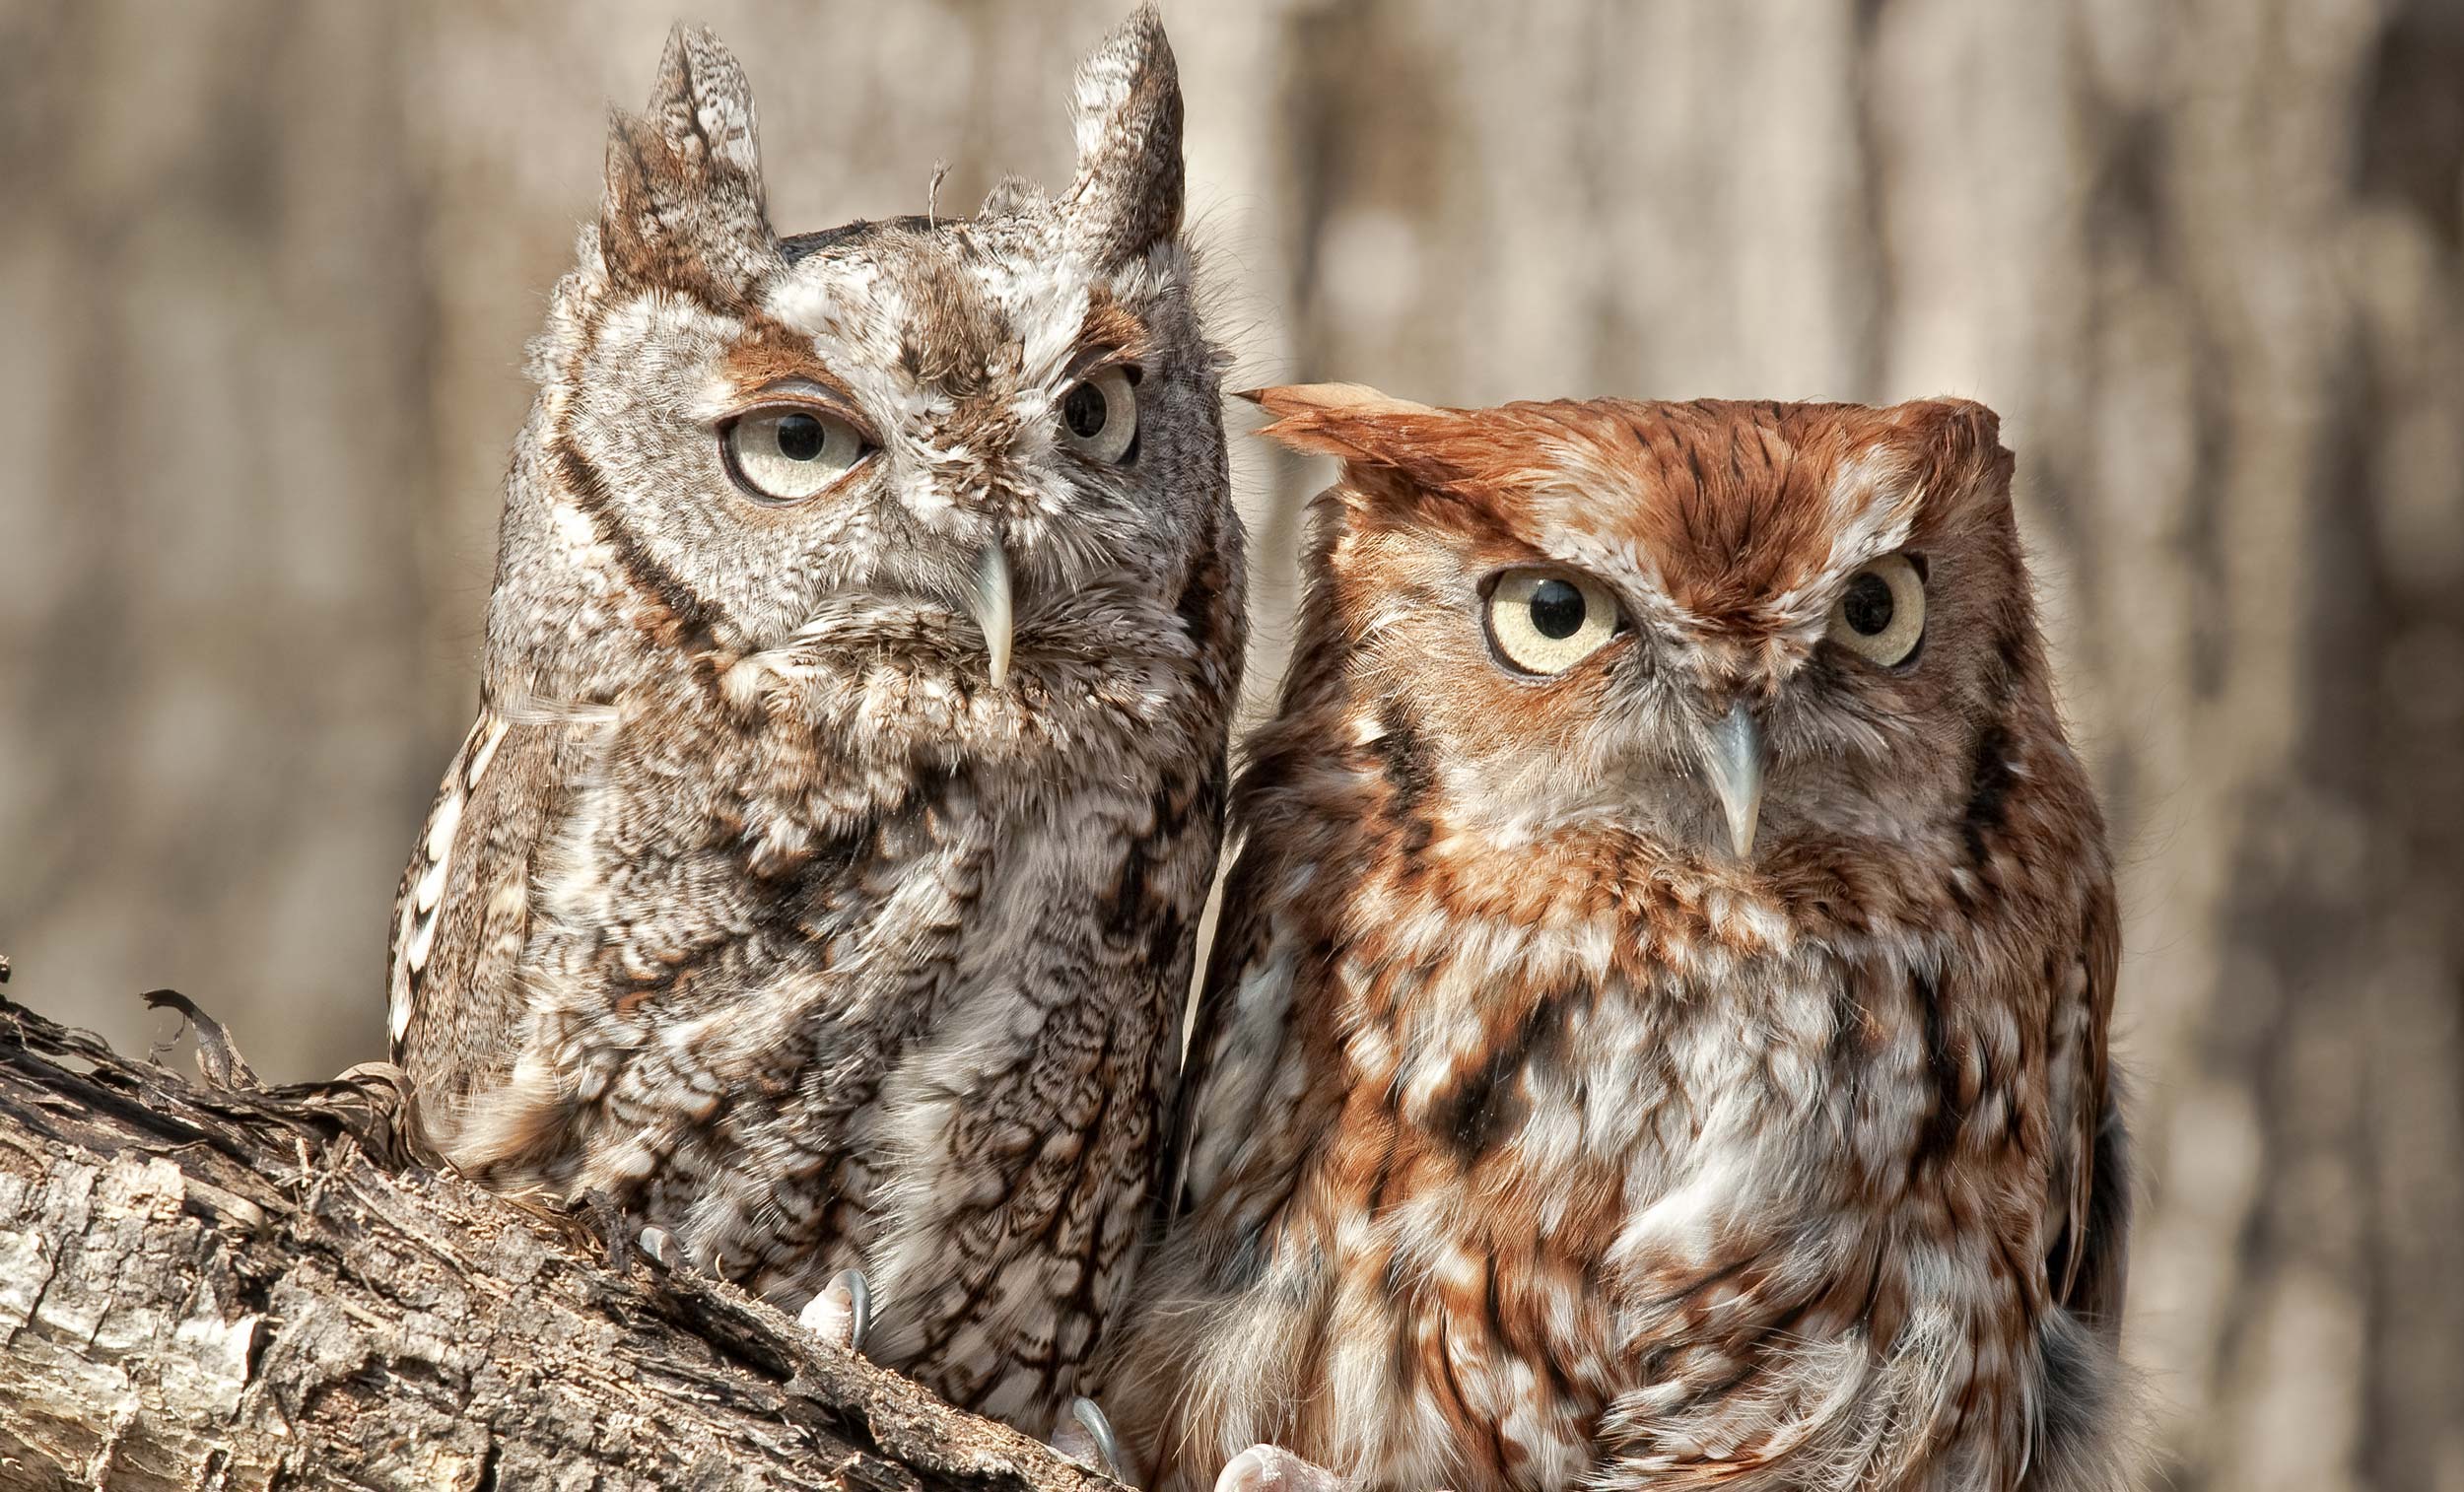
[[[1257,399],[1343,465],[1106,1369],[1146,1485],[2124,1485],[2112,864],[1996,416]]]

